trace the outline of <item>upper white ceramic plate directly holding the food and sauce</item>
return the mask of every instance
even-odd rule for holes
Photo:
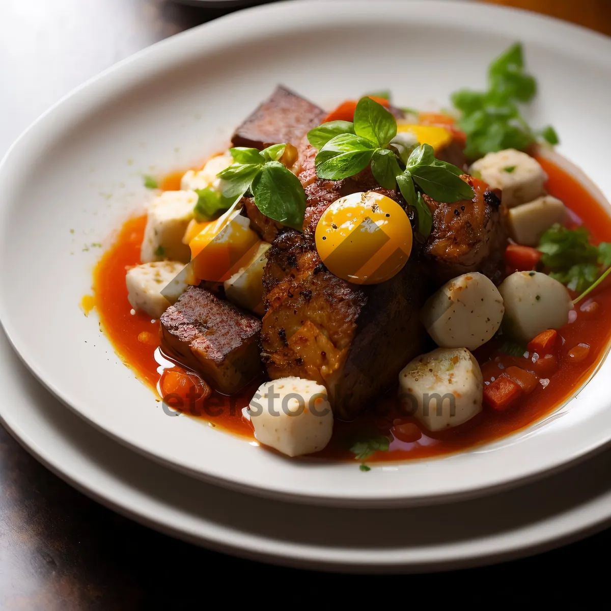
[[[184,167],[222,148],[277,82],[323,106],[392,86],[417,108],[482,86],[489,60],[525,43],[560,152],[611,194],[608,38],[531,13],[461,2],[273,4],[159,43],[47,112],[0,169],[0,318],[26,364],[57,397],[123,444],[232,488],[337,505],[467,496],[558,469],[611,438],[607,361],[544,422],[448,458],[385,464],[289,460],[188,417],[168,417],[123,367],[95,316],[79,310],[93,263],[142,205],[141,172]],[[338,25],[341,24],[341,27]],[[329,67],[326,71],[324,67]],[[332,87],[329,83],[332,82]],[[74,230],[74,233],[71,233]],[[576,389],[577,391],[577,389]]]

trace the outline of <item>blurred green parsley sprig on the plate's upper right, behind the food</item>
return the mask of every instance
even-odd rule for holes
[[[503,150],[524,150],[541,137],[558,144],[554,128],[547,126],[535,133],[522,117],[518,104],[532,101],[536,81],[524,70],[522,45],[516,43],[497,57],[488,68],[488,90],[460,89],[452,103],[463,113],[458,126],[467,134],[465,154],[478,159]]]

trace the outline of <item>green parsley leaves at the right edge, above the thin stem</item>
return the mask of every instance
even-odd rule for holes
[[[611,265],[611,244],[590,244],[585,227],[552,225],[541,236],[538,250],[543,252],[541,262],[549,268],[549,275],[577,293],[590,287],[602,269]]]

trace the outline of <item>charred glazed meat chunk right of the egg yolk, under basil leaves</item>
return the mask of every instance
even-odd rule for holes
[[[505,217],[499,192],[463,175],[475,189],[472,201],[439,203],[424,196],[433,213],[433,231],[425,254],[439,283],[470,271],[480,271],[498,284],[503,275],[507,245]]]

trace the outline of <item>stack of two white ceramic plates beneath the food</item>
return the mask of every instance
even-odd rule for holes
[[[608,122],[610,40],[480,4],[362,1],[346,11],[326,2],[324,18],[318,2],[266,5],[146,49],[57,104],[0,169],[0,317],[42,382],[3,337],[5,426],[61,477],[145,524],[299,566],[440,569],[605,524],[611,457],[591,455],[611,439],[611,360],[527,430],[363,473],[288,461],[169,417],[123,367],[95,312],[79,308],[99,256],[93,246],[142,206],[142,173],[223,148],[277,82],[321,106],[390,84],[405,105],[438,108],[457,87],[481,86],[471,75],[485,74],[516,37],[539,77],[533,121],[552,123],[560,152],[611,194],[598,137]]]

